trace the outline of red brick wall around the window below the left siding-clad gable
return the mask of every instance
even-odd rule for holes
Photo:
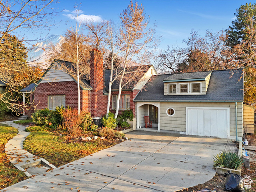
[[[40,83],[33,94],[30,94],[30,102],[33,101],[36,110],[48,107],[48,95],[65,95],[66,107],[78,108],[78,92],[75,81],[54,82],[54,83]],[[81,110],[90,112],[90,91],[82,90],[80,88],[80,107]],[[31,113],[28,111],[28,114]]]

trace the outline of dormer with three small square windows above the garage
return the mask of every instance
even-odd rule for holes
[[[205,95],[212,71],[176,73],[163,79],[164,95]]]

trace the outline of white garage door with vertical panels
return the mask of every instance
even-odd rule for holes
[[[229,108],[186,107],[186,134],[228,138]]]

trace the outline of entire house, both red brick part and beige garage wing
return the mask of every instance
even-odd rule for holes
[[[102,54],[90,52],[90,80],[80,79],[81,110],[94,119],[106,114],[110,71],[104,70]],[[36,109],[56,106],[77,108],[77,79],[58,68],[56,60],[37,84],[21,90],[30,94]],[[64,62],[68,65],[68,62]],[[161,132],[236,138],[243,134],[242,70],[230,78],[230,70],[157,75],[152,65],[133,84],[121,92],[120,110],[133,109],[134,130],[144,127],[144,116],[150,116],[153,128]],[[111,106],[116,108],[117,82],[112,85]],[[26,112],[31,113],[32,111]]]

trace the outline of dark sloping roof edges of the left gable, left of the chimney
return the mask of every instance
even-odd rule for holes
[[[52,62],[52,64],[50,64],[50,66],[48,67],[48,69],[46,70],[46,72],[44,72],[42,78],[35,84],[32,83],[29,86],[25,87],[24,89],[20,90],[20,92],[33,92],[36,87],[40,84],[40,82],[42,81],[42,79],[46,76],[46,74],[48,73],[48,71],[50,70],[50,68],[52,68],[52,66],[54,65],[54,63],[59,63],[59,64],[63,64],[65,65],[67,68],[74,68],[72,66],[71,62],[68,61],[63,61],[63,60],[54,60]],[[88,77],[88,74],[85,74],[83,78],[79,79],[79,85],[83,90],[92,90],[92,87],[90,86],[89,82],[86,80]],[[75,82],[77,82],[77,77],[75,75],[70,75],[70,77],[72,77],[74,79]]]

